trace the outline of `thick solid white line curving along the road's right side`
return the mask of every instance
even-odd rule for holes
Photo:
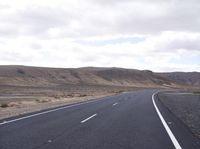
[[[156,109],[156,112],[158,113],[158,116],[159,116],[159,118],[160,118],[160,120],[161,120],[163,126],[165,127],[165,130],[167,131],[167,133],[168,133],[168,135],[169,135],[169,137],[170,137],[172,143],[174,144],[175,148],[176,148],[176,149],[182,149],[181,146],[180,146],[180,144],[179,144],[178,141],[176,140],[174,134],[173,134],[172,131],[170,130],[169,126],[167,125],[166,121],[164,120],[163,116],[161,115],[161,113],[160,113],[158,107],[156,106],[156,103],[155,103],[155,100],[154,100],[154,96],[155,96],[156,94],[157,94],[157,92],[154,93],[154,94],[152,95],[152,101],[153,101],[153,105],[154,105],[154,107],[155,107],[155,109]]]

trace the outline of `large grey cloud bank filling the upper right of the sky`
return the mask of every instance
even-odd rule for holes
[[[108,7],[100,5],[96,11],[87,10],[79,20],[82,26],[75,30],[77,36],[200,31],[200,3],[195,0],[127,0],[108,3],[112,2],[120,4]]]

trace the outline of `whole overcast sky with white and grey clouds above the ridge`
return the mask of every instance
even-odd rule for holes
[[[0,0],[0,65],[200,71],[200,1]]]

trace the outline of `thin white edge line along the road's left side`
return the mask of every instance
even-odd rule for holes
[[[103,99],[104,98],[99,99],[99,100],[103,100]],[[8,123],[12,123],[12,122],[20,121],[20,120],[23,120],[23,119],[27,119],[27,118],[30,118],[30,117],[35,117],[35,116],[39,116],[39,115],[55,112],[55,111],[58,111],[58,110],[62,110],[62,109],[66,109],[66,108],[70,108],[70,107],[74,107],[74,106],[79,106],[79,105],[82,105],[82,104],[97,102],[99,100],[93,100],[93,101],[91,100],[91,101],[86,101],[86,102],[77,103],[77,104],[73,104],[73,105],[67,105],[67,106],[56,108],[56,109],[52,109],[52,110],[49,110],[49,111],[44,111],[44,112],[40,112],[40,113],[31,114],[31,115],[24,116],[24,117],[17,118],[17,119],[13,119],[13,120],[3,121],[3,122],[0,123],[0,126],[8,124]]]

